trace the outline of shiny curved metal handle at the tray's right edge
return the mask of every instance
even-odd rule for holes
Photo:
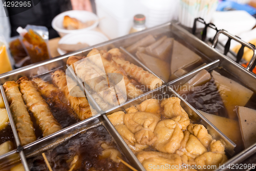
[[[255,48],[254,46],[252,46],[251,44],[249,44],[249,43],[247,43],[247,42],[241,40],[239,37],[234,36],[234,35],[228,33],[228,32],[225,31],[225,30],[220,30],[220,31],[218,31],[218,32],[216,33],[216,36],[215,36],[215,38],[214,38],[214,41],[212,42],[212,46],[211,46],[212,48],[215,48],[215,46],[217,45],[218,38],[219,38],[220,34],[225,34],[225,35],[228,36],[230,39],[233,39],[233,40],[235,40],[235,41],[241,43],[242,46],[248,47],[249,49],[251,49],[251,50],[253,51],[252,58],[251,58],[251,60],[250,60],[250,62],[249,62],[249,64],[248,64],[248,66],[246,67],[246,70],[252,71],[252,69],[253,69],[253,68],[255,67],[255,65],[256,65],[256,59],[255,59],[255,58],[256,58],[256,48]]]

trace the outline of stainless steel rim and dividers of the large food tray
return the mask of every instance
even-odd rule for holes
[[[223,32],[220,32],[220,33],[223,33]],[[194,35],[188,33],[186,30],[184,30],[183,28],[181,28],[180,26],[178,26],[175,23],[167,23],[167,24],[157,26],[157,27],[154,27],[151,29],[147,29],[147,30],[144,30],[141,32],[126,35],[126,36],[120,37],[115,40],[111,40],[111,41],[108,41],[108,42],[105,42],[102,44],[98,44],[94,47],[98,48],[98,49],[104,49],[110,45],[120,47],[121,52],[123,52],[127,57],[126,60],[142,67],[144,70],[147,70],[148,72],[153,73],[154,75],[156,75],[158,77],[157,74],[155,74],[153,71],[148,69],[133,54],[127,52],[123,48],[126,45],[137,41],[138,39],[140,39],[140,37],[146,36],[148,34],[153,34],[153,35],[168,34],[168,35],[174,36],[176,39],[185,40],[184,44],[186,44],[190,48],[193,48],[195,51],[197,51],[197,53],[201,53],[202,56],[204,56],[205,60],[207,61],[207,64],[204,66],[201,66],[200,68],[190,71],[189,73],[183,75],[182,77],[180,77],[172,82],[169,82],[169,83],[163,82],[163,84],[164,84],[163,86],[161,86],[155,90],[148,91],[139,97],[136,97],[132,100],[128,100],[124,104],[122,104],[120,106],[115,106],[109,110],[106,110],[105,112],[102,112],[102,110],[99,108],[99,106],[97,107],[98,104],[91,97],[92,103],[95,104],[96,109],[100,113],[99,115],[91,117],[87,120],[81,121],[79,123],[76,123],[72,126],[69,126],[65,129],[58,131],[58,132],[55,132],[54,134],[52,134],[50,136],[41,138],[35,142],[25,145],[24,147],[19,146],[20,143],[18,140],[15,124],[12,119],[12,115],[11,115],[11,111],[9,108],[9,104],[7,102],[5,91],[3,89],[3,86],[1,86],[2,95],[3,95],[4,102],[5,102],[7,111],[8,111],[8,117],[10,119],[13,134],[15,137],[15,142],[16,142],[16,145],[18,148],[10,151],[9,153],[7,153],[3,156],[0,156],[0,162],[7,159],[11,155],[17,153],[17,151],[18,151],[18,153],[20,154],[20,158],[24,164],[24,167],[27,171],[27,170],[29,170],[29,167],[28,167],[28,163],[26,161],[26,157],[31,157],[31,156],[37,154],[38,151],[45,150],[47,147],[55,144],[57,142],[57,140],[68,141],[69,136],[72,137],[74,135],[80,134],[80,132],[84,131],[86,128],[90,128],[90,126],[97,125],[100,123],[100,124],[103,124],[109,130],[111,136],[116,141],[117,145],[122,150],[122,152],[127,156],[129,161],[131,162],[131,164],[133,164],[134,167],[137,168],[138,170],[145,170],[143,168],[143,166],[140,164],[140,162],[138,161],[138,159],[136,158],[136,156],[132,153],[131,149],[127,146],[127,144],[124,142],[124,140],[118,134],[118,132],[116,131],[114,126],[110,123],[110,121],[108,120],[108,117],[106,117],[106,115],[109,115],[115,111],[124,110],[125,108],[130,107],[132,105],[139,104],[140,102],[142,102],[141,99],[143,99],[143,98],[150,98],[150,97],[156,98],[158,94],[163,94],[163,95],[174,94],[176,97],[179,97],[181,99],[181,103],[184,106],[185,111],[187,111],[187,113],[191,114],[190,117],[195,118],[195,119],[199,118],[198,122],[203,124],[204,126],[206,126],[206,128],[209,130],[210,134],[214,138],[220,139],[225,144],[226,152],[228,152],[229,156],[232,157],[232,155],[234,154],[233,148],[236,146],[236,144],[234,144],[232,141],[230,141],[219,129],[217,129],[205,117],[203,117],[201,115],[201,113],[199,113],[195,108],[193,108],[184,99],[182,99],[182,97],[180,97],[179,94],[177,92],[175,92],[175,90],[172,89],[172,86],[174,86],[174,85],[179,86],[179,85],[185,83],[186,81],[188,81],[189,79],[194,77],[194,75],[196,73],[198,73],[199,71],[201,71],[202,69],[211,70],[212,68],[223,67],[225,70],[227,70],[229,73],[231,73],[234,77],[241,80],[246,86],[248,86],[251,89],[253,89],[254,91],[256,91],[255,75],[249,71],[250,68],[248,68],[248,69],[243,68],[236,62],[228,59],[225,55],[221,54],[214,48],[208,46],[207,44],[205,44],[204,42],[199,40]],[[217,39],[218,39],[218,36],[216,36],[216,40]],[[244,43],[243,41],[241,41],[241,42]],[[244,43],[244,45],[248,46],[245,43]],[[6,81],[17,80],[21,76],[36,77],[38,75],[48,74],[48,73],[52,72],[53,70],[55,70],[56,68],[66,68],[66,61],[69,56],[71,56],[71,55],[84,56],[91,49],[92,49],[92,47],[84,48],[83,50],[79,50],[79,51],[76,51],[73,53],[62,55],[59,58],[54,58],[54,59],[48,60],[46,62],[32,64],[30,66],[20,68],[20,69],[8,72],[6,74],[2,74],[2,75],[0,75],[0,85],[4,84]],[[254,48],[254,50],[255,50],[255,48]],[[255,55],[252,58],[252,63],[254,61],[255,61]],[[252,66],[252,65],[250,65],[250,66]],[[73,77],[76,78],[76,75],[73,75]],[[79,84],[81,86],[81,83],[79,83]],[[84,90],[86,90],[86,89],[84,89]],[[88,97],[90,97],[90,96],[88,96]],[[67,132],[69,132],[70,134],[67,135]],[[40,148],[38,148],[38,147],[40,147]],[[252,145],[250,148],[242,151],[240,154],[237,154],[235,157],[232,157],[229,161],[227,161],[227,163],[243,162],[243,160],[248,158],[248,156],[256,154],[256,151],[254,149],[256,149],[256,143],[254,145]],[[254,161],[254,162],[256,162],[256,161]]]

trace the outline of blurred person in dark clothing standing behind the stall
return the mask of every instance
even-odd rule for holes
[[[94,1],[92,4],[94,4]],[[90,0],[41,0],[33,8],[9,16],[11,24],[11,36],[18,35],[16,29],[19,26],[25,28],[28,24],[30,24],[36,26],[46,26],[49,30],[49,39],[58,37],[58,33],[52,28],[51,25],[52,20],[56,15],[72,9],[87,10],[92,12],[92,4]]]

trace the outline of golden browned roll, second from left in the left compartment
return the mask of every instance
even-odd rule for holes
[[[20,92],[23,94],[23,100],[36,118],[36,123],[42,131],[42,136],[46,137],[59,131],[61,126],[53,117],[46,101],[37,91],[36,84],[27,77],[22,77],[17,82],[19,83]]]

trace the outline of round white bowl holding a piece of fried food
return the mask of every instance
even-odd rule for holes
[[[77,30],[67,30],[63,27],[63,24],[62,24],[63,18],[65,15],[76,18],[81,22],[95,21],[95,23],[92,26],[87,28],[82,28]],[[58,32],[60,37],[69,33],[80,32],[84,30],[92,30],[96,28],[98,24],[99,24],[99,18],[97,15],[95,15],[92,12],[82,11],[82,10],[71,10],[71,11],[62,12],[57,16],[55,16],[52,20],[52,28]]]

